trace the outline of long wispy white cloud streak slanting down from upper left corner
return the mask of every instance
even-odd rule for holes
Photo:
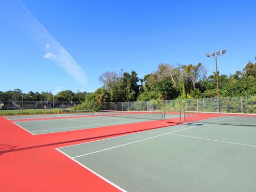
[[[43,25],[34,17],[27,7],[19,0],[1,1],[0,18],[19,29],[29,38],[45,49],[43,55],[46,59],[51,59],[59,67],[66,71],[78,83],[87,84],[85,72],[70,53],[54,39]]]

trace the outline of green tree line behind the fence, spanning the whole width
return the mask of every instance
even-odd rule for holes
[[[23,93],[24,101],[70,101],[83,102],[81,108],[89,108],[95,103],[171,100],[217,97],[217,74],[207,71],[202,63],[174,67],[161,63],[152,73],[139,78],[136,71],[122,69],[107,71],[99,76],[100,88],[93,93],[61,91],[56,95],[43,91]],[[256,95],[256,63],[249,61],[242,71],[235,74],[219,75],[220,97]],[[21,99],[21,90],[0,92],[0,100]]]

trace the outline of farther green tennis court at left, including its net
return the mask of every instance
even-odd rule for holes
[[[89,116],[87,116],[89,115]],[[162,111],[102,111],[82,115],[59,114],[59,115],[34,115],[34,116],[9,116],[13,123],[31,134],[56,133],[92,129],[97,127],[124,125],[148,121],[162,120]],[[55,118],[56,117],[56,118]],[[64,118],[60,118],[64,117]],[[68,118],[66,118],[68,117]],[[179,114],[167,114],[167,118],[179,118]],[[39,119],[40,118],[40,119]],[[17,120],[17,121],[16,121]],[[21,121],[22,120],[22,121]]]

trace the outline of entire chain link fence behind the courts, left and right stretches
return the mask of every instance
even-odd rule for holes
[[[25,109],[65,109],[76,108],[80,102],[67,101],[0,101],[1,110],[25,110]],[[166,112],[179,111],[205,111],[217,112],[217,98],[203,99],[176,99],[158,101],[135,101],[135,102],[109,102],[98,103],[100,109],[119,111],[154,111]],[[98,108],[95,110],[98,110]],[[220,98],[220,111],[223,113],[246,113],[256,114],[256,96],[253,97],[227,97]]]

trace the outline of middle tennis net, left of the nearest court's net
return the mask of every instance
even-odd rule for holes
[[[115,111],[115,110],[100,110],[100,116],[124,117],[137,119],[163,119],[162,111]]]

